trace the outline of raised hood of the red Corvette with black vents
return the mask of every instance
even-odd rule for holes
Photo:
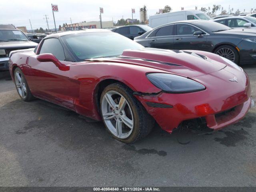
[[[196,52],[196,51],[195,51]],[[122,55],[113,58],[97,58],[90,61],[118,62],[145,66],[154,69],[180,74],[186,77],[197,77],[222,70],[226,64],[213,60],[200,52],[186,50],[163,50],[143,48],[140,50],[124,50]],[[209,54],[209,53],[208,53]],[[210,53],[211,54],[211,53]],[[218,57],[215,54],[212,54]]]

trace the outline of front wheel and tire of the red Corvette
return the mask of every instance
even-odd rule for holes
[[[124,143],[146,137],[154,126],[154,119],[132,91],[121,83],[107,86],[100,97],[100,111],[110,134]]]

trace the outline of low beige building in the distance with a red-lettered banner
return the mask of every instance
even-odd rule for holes
[[[113,28],[114,23],[113,21],[102,21],[102,28]],[[80,23],[73,23],[67,24],[65,27],[61,28],[61,31],[73,31],[73,30],[82,30],[82,29],[91,29],[91,28],[100,28],[99,21],[92,21],[92,22],[80,22]]]

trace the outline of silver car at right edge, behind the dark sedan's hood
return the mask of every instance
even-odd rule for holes
[[[224,24],[231,28],[254,28],[256,29],[256,18],[251,16],[237,16],[214,19],[213,21]]]

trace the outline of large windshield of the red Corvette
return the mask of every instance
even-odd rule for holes
[[[140,49],[142,45],[114,32],[88,32],[62,36],[78,61],[90,58],[119,56],[125,49]]]

